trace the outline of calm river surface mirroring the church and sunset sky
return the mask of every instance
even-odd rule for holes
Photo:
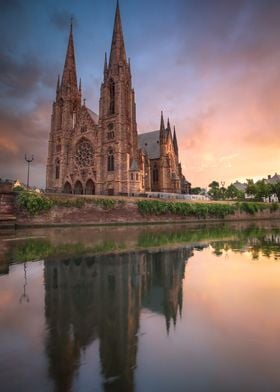
[[[0,390],[279,391],[280,225],[0,233]]]

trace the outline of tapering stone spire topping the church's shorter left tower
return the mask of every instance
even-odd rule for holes
[[[76,74],[76,63],[75,63],[75,51],[74,51],[74,40],[72,31],[72,19],[70,24],[70,34],[68,40],[67,53],[65,58],[63,76],[61,80],[61,87],[71,89],[77,89],[77,74]]]

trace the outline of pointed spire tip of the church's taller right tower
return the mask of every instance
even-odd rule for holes
[[[119,64],[120,62],[126,63],[126,52],[123,39],[122,22],[119,1],[117,2],[115,25],[112,37],[111,53],[109,67]]]

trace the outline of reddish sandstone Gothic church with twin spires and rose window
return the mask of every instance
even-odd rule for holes
[[[82,101],[72,23],[63,75],[58,78],[49,135],[46,190],[87,195],[189,193],[175,128],[138,135],[135,92],[117,4],[110,57],[105,55],[99,115]]]

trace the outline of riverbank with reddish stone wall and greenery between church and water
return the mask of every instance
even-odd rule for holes
[[[279,204],[68,195],[40,196],[39,201],[36,196],[32,200],[24,197],[15,208],[18,227],[280,220]]]

